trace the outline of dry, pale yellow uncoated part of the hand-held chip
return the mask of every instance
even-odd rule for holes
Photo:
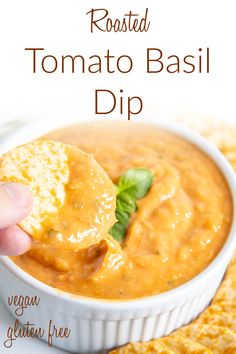
[[[47,215],[55,213],[65,201],[65,186],[69,182],[65,145],[39,141],[16,147],[1,156],[0,180],[29,186],[34,196],[33,210],[20,226],[31,236],[37,236]]]

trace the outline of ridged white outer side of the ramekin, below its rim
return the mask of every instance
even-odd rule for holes
[[[52,320],[57,327],[68,327],[68,339],[55,339],[53,345],[75,353],[106,353],[108,350],[128,342],[148,341],[162,337],[189,323],[202,312],[213,298],[225,267],[218,272],[210,284],[199,288],[198,292],[181,297],[173,303],[147,306],[145,309],[130,308],[113,311],[81,307],[80,304],[55,301],[38,289],[26,284],[0,263],[1,297],[8,309],[16,317],[15,308],[7,303],[8,296],[23,295],[40,298],[37,307],[30,307],[23,316],[16,317],[22,324],[29,321],[35,327],[48,328]],[[47,341],[47,331],[45,337]]]

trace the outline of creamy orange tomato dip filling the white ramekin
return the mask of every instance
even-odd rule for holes
[[[72,294],[134,299],[187,282],[219,253],[231,227],[231,193],[215,163],[190,142],[126,122],[78,124],[43,139],[93,154],[115,184],[135,167],[149,169],[154,181],[137,201],[122,243],[108,236],[106,245],[76,251],[34,241],[12,257],[33,277]]]

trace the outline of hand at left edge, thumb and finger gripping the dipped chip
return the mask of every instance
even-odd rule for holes
[[[0,184],[0,255],[16,256],[31,246],[31,237],[16,224],[31,211],[33,197],[20,183]]]

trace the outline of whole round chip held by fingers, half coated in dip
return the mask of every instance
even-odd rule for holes
[[[115,223],[116,191],[102,167],[72,145],[35,141],[2,156],[0,180],[28,185],[31,214],[20,227],[56,248],[99,243]]]

